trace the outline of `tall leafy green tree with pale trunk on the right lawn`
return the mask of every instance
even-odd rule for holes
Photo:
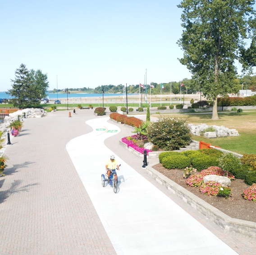
[[[184,54],[179,61],[192,73],[201,91],[213,100],[212,119],[218,119],[217,97],[232,91],[238,59],[244,70],[255,65],[254,0],[183,0],[178,7]],[[246,49],[245,39],[251,39]]]

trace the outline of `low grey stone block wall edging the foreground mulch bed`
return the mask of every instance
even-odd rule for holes
[[[152,179],[155,179],[158,183],[163,185],[174,195],[180,197],[183,201],[199,211],[201,214],[205,215],[219,227],[231,232],[248,235],[250,237],[256,237],[255,222],[231,218],[230,216],[221,212],[219,209],[211,206],[206,201],[197,197],[192,192],[189,192],[171,179],[167,178],[165,175],[153,169],[152,166],[153,164],[146,166],[146,173]]]

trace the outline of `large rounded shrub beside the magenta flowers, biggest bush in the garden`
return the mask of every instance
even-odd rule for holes
[[[187,121],[170,117],[160,117],[147,128],[148,140],[166,151],[183,148],[191,142]]]

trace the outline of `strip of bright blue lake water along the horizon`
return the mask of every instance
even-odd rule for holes
[[[128,96],[137,95],[137,94],[128,94]],[[49,93],[49,98],[57,98],[57,93]],[[122,96],[123,94],[104,94],[104,96]],[[90,94],[90,93],[77,93],[77,94],[68,94],[69,98],[91,98],[91,97],[102,97],[102,94]],[[9,95],[5,92],[0,92],[0,98],[9,98]],[[12,97],[10,97],[12,98]],[[67,98],[67,94],[58,93],[58,98]]]

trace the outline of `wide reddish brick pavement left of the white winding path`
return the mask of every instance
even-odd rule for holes
[[[0,178],[0,254],[114,255],[114,248],[66,151],[91,132],[93,111],[25,119]]]

